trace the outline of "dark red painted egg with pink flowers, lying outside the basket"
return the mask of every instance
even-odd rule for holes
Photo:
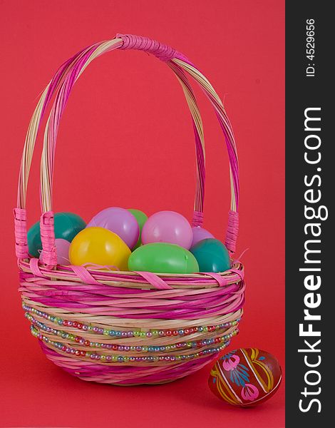
[[[254,406],[272,397],[282,382],[277,359],[257,348],[240,348],[220,357],[210,371],[211,391],[235,406]]]

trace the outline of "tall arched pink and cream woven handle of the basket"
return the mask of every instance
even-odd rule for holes
[[[193,225],[202,225],[202,211],[205,185],[205,144],[202,131],[202,121],[194,93],[188,82],[185,71],[197,81],[207,98],[215,108],[215,113],[220,122],[220,126],[225,135],[227,150],[230,160],[230,182],[231,182],[231,209],[228,218],[228,228],[225,243],[231,253],[234,253],[237,233],[238,233],[238,201],[239,201],[239,181],[238,181],[238,161],[237,151],[234,143],[234,134],[230,121],[227,118],[222,101],[215,93],[214,88],[207,78],[195,68],[195,66],[182,54],[164,44],[158,43],[145,37],[118,34],[115,39],[105,41],[100,44],[89,46],[83,51],[66,61],[59,68],[53,80],[43,92],[38,106],[31,118],[29,131],[26,137],[24,154],[21,161],[21,171],[19,176],[18,208],[14,209],[15,233],[16,233],[16,255],[20,258],[28,257],[26,245],[26,186],[28,183],[29,169],[33,147],[36,141],[38,126],[46,110],[53,93],[56,93],[55,101],[51,113],[46,123],[44,133],[43,152],[41,157],[41,240],[43,245],[43,262],[48,267],[56,265],[56,247],[54,243],[53,211],[52,211],[52,183],[53,165],[56,149],[56,138],[61,115],[66,106],[68,96],[73,84],[81,75],[88,63],[101,54],[113,49],[138,49],[155,55],[160,60],[165,61],[174,71],[178,81],[185,93],[187,104],[190,108],[192,123],[195,132],[195,148],[197,155],[197,183],[195,194],[195,212]]]

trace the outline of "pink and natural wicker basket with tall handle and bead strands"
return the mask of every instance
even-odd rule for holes
[[[139,49],[171,68],[185,93],[195,133],[196,193],[192,224],[202,225],[205,146],[191,76],[212,103],[230,160],[231,209],[225,244],[233,255],[238,231],[238,162],[234,134],[222,101],[207,78],[182,54],[157,41],[120,35],[88,46],[58,69],[33,113],[24,145],[14,209],[16,256],[26,318],[43,352],[81,379],[109,384],[158,384],[195,372],[237,334],[244,304],[244,267],[220,273],[155,275],[56,265],[52,185],[56,137],[77,78],[94,58],[113,49]],[[26,188],[41,120],[46,123],[41,156],[43,263],[28,253]]]

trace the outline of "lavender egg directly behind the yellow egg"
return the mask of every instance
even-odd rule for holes
[[[138,222],[128,210],[124,208],[105,208],[96,214],[86,228],[105,228],[116,233],[131,249],[138,242],[140,228]]]

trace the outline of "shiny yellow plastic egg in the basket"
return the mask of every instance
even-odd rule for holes
[[[86,228],[73,238],[69,258],[72,265],[91,263],[128,270],[130,253],[128,246],[116,233],[104,228]]]

